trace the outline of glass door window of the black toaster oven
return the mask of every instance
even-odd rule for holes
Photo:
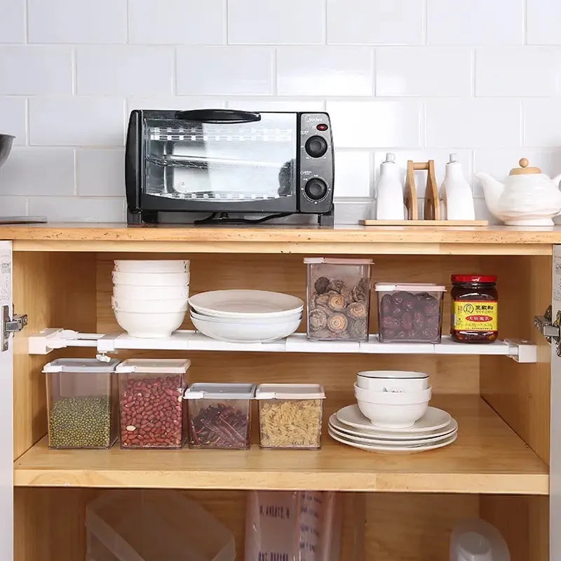
[[[225,203],[295,196],[297,116],[260,117],[249,123],[145,119],[144,191]]]

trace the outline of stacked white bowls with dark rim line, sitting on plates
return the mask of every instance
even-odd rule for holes
[[[354,388],[360,412],[382,428],[413,426],[426,413],[432,397],[424,372],[358,372]]]

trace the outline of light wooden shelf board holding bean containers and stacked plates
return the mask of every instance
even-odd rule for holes
[[[351,403],[348,400],[346,403]],[[14,464],[18,487],[326,489],[548,494],[548,466],[479,396],[435,396],[458,420],[450,447],[374,454],[324,435],[321,450],[48,450],[46,438]],[[337,410],[328,403],[327,415]],[[325,427],[324,427],[325,428]],[[255,431],[254,431],[255,436]]]

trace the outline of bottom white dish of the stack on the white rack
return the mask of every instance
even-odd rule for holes
[[[302,319],[288,323],[216,323],[191,316],[191,321],[198,331],[211,339],[229,343],[267,343],[294,333]]]

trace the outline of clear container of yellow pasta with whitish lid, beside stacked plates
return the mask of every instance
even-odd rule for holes
[[[318,384],[260,384],[262,448],[319,448],[325,393]]]

